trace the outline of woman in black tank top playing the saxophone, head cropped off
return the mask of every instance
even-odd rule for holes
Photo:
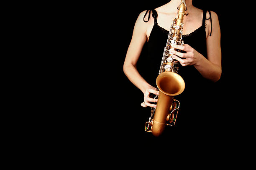
[[[155,81],[169,27],[176,17],[180,2],[181,0],[171,0],[154,10],[143,11],[136,20],[123,71],[128,79],[143,93],[142,107],[156,107],[154,102],[157,102],[157,99],[151,98],[150,93],[158,95]],[[189,107],[189,109],[180,110],[179,112],[190,112],[189,114],[179,113],[186,116],[183,116],[183,120],[177,120],[177,122],[184,121],[189,125],[194,125],[195,122],[192,119],[195,116],[191,116],[191,112],[204,114],[203,112],[209,106],[206,101],[209,99],[211,91],[209,88],[212,87],[210,82],[218,81],[222,72],[220,25],[216,13],[198,9],[192,5],[192,0],[186,0],[185,2],[188,15],[184,16],[183,20],[182,37],[184,45],[175,45],[174,48],[186,53],[175,50],[172,50],[171,53],[174,54],[174,59],[180,62],[181,66],[178,73],[182,76],[186,85],[184,92],[178,98],[182,100],[182,106]],[[146,59],[148,74],[142,77],[136,68],[136,64],[145,43],[148,45],[148,57]],[[200,111],[193,108],[198,100],[203,101],[199,106]]]

